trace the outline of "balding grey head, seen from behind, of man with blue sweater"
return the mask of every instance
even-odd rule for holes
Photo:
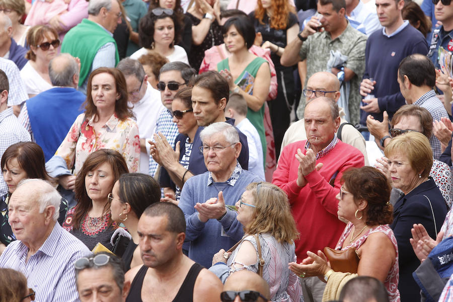
[[[65,60],[61,60],[60,58],[64,58]],[[54,66],[55,64],[57,66]],[[72,86],[72,77],[74,74],[79,74],[79,66],[70,54],[61,53],[50,60],[49,78],[53,86]]]

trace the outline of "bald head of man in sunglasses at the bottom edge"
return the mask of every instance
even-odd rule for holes
[[[223,284],[223,291],[241,291],[241,290],[255,290],[261,293],[263,296],[270,301],[270,290],[269,284],[257,273],[251,272],[249,270],[243,269],[237,271],[226,279]],[[262,298],[259,298],[258,301],[262,301]]]

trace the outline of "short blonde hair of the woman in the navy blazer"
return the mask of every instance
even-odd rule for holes
[[[417,173],[422,171],[421,177],[427,177],[432,167],[432,149],[425,135],[409,131],[392,138],[386,146],[384,154],[387,158],[395,154],[405,154],[412,169]]]

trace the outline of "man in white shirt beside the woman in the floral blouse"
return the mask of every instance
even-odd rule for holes
[[[153,137],[159,113],[164,110],[161,93],[148,83],[143,66],[131,58],[122,59],[116,66],[124,74],[129,105],[137,119],[140,135],[140,173],[149,172],[149,145],[146,140]]]

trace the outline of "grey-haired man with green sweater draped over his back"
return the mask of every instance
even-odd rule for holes
[[[118,64],[118,48],[113,32],[121,22],[117,0],[91,0],[88,4],[88,19],[83,19],[64,36],[61,52],[80,58],[79,90],[84,94],[93,70]]]

